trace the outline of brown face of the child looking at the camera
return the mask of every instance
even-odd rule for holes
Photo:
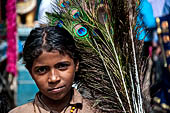
[[[61,100],[70,92],[78,63],[59,51],[43,52],[30,70],[40,92],[52,100]]]

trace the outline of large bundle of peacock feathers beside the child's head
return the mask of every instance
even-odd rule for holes
[[[143,42],[137,40],[136,0],[56,0],[49,24],[74,36],[81,50],[78,89],[96,109],[144,113],[140,78]]]

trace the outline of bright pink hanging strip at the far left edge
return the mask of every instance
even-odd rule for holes
[[[17,75],[17,25],[16,25],[16,0],[7,0],[7,72]]]

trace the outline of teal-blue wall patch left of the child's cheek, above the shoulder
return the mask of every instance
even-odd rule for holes
[[[35,97],[35,94],[38,92],[35,82],[23,64],[18,65],[17,85],[17,106],[32,101]]]

